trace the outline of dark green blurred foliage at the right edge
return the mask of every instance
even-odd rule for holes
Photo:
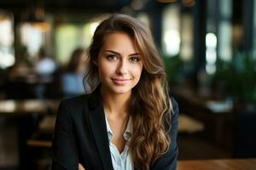
[[[256,104],[256,59],[237,53],[230,62],[218,60],[216,79],[226,83],[234,99]]]

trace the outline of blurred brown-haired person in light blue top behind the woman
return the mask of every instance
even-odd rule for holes
[[[85,92],[89,90],[89,85],[86,82],[84,82],[83,87],[83,78],[88,68],[88,61],[83,48],[77,48],[73,51],[67,68],[61,76],[61,88],[65,98],[84,94],[84,90]]]

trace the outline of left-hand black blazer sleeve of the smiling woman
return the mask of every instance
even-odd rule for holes
[[[61,102],[58,109],[52,151],[52,170],[79,169],[72,119],[65,102]]]

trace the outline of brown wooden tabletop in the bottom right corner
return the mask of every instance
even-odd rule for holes
[[[177,170],[255,170],[256,158],[178,161]]]

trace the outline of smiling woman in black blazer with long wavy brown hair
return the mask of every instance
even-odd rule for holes
[[[61,102],[53,169],[176,169],[177,103],[148,28],[114,14],[89,56],[93,92]]]

